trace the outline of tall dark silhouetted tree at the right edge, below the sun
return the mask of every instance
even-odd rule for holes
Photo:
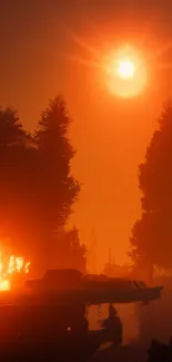
[[[131,257],[134,264],[171,267],[172,254],[172,105],[166,104],[139,166],[142,216],[133,226]]]

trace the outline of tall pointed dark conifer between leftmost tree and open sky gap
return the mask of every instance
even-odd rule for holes
[[[37,195],[38,225],[42,229],[41,247],[50,264],[55,258],[57,232],[65,225],[80,190],[70,170],[74,156],[68,134],[70,123],[65,101],[58,96],[42,112],[36,133],[40,182]]]

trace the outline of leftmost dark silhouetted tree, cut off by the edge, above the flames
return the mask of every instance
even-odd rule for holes
[[[13,250],[27,246],[26,234],[33,217],[30,208],[33,206],[36,162],[36,147],[17,112],[10,108],[0,109],[0,237],[12,239]]]

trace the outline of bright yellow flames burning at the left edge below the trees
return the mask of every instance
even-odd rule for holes
[[[10,291],[10,278],[13,274],[28,274],[30,262],[26,262],[23,257],[11,255],[7,261],[3,261],[3,255],[0,253],[0,292]]]

